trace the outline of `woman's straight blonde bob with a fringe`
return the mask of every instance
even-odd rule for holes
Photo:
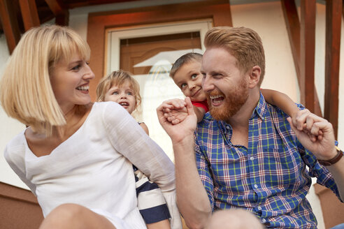
[[[89,45],[68,27],[49,25],[29,29],[8,59],[0,82],[0,103],[8,116],[33,131],[50,135],[52,126],[66,119],[50,84],[50,73],[59,61],[73,54],[89,59]]]

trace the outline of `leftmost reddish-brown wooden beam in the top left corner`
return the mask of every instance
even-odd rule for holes
[[[10,0],[0,0],[0,18],[3,32],[6,36],[8,50],[12,54],[15,45],[20,40],[20,29],[15,16],[13,3]]]

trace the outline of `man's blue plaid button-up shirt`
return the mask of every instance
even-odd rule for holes
[[[196,128],[195,152],[213,211],[240,207],[268,228],[317,228],[306,200],[310,177],[339,196],[337,186],[329,170],[297,140],[287,117],[260,95],[246,148],[232,145],[231,126],[206,113]]]

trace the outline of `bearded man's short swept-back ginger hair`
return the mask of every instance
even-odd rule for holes
[[[265,54],[263,43],[256,31],[245,27],[213,27],[204,38],[204,45],[223,47],[236,57],[237,66],[243,72],[254,66],[261,68],[259,85],[265,74]]]

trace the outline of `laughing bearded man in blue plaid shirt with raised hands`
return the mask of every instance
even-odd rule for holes
[[[343,152],[331,124],[301,105],[291,120],[266,103],[259,90],[264,48],[252,29],[215,27],[204,43],[202,87],[210,113],[196,124],[189,98],[157,108],[173,143],[178,207],[187,226],[206,228],[218,209],[245,209],[268,228],[317,228],[306,200],[310,177],[344,198]],[[171,124],[171,110],[185,114],[180,123]]]

